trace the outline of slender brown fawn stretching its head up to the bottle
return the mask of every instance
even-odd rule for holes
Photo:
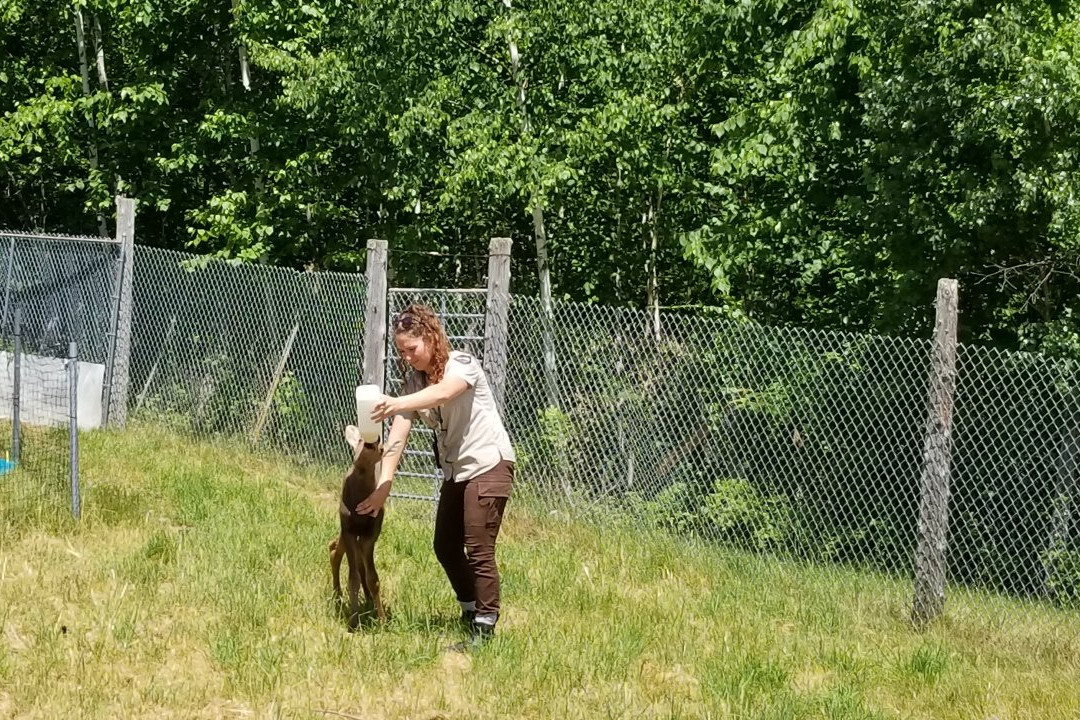
[[[338,515],[341,533],[330,541],[330,574],[334,579],[334,596],[341,598],[341,558],[349,559],[349,627],[360,624],[360,587],[364,597],[375,608],[380,621],[387,619],[379,597],[379,573],[375,570],[375,542],[382,531],[382,511],[375,515],[360,515],[355,512],[375,490],[376,471],[382,459],[381,443],[364,443],[360,430],[349,425],[345,431],[346,441],[352,447],[352,467],[341,484],[341,503]]]

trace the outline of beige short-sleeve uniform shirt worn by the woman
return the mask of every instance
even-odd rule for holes
[[[480,361],[469,353],[451,351],[446,377],[461,378],[468,390],[437,408],[405,413],[435,431],[444,477],[463,483],[503,460],[515,462],[514,447]],[[427,386],[428,376],[413,371],[405,379],[402,394],[409,395]]]

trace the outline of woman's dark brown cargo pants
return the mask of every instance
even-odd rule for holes
[[[499,612],[495,541],[513,481],[514,464],[503,460],[468,480],[446,480],[440,491],[435,557],[458,600],[475,600],[477,614]]]

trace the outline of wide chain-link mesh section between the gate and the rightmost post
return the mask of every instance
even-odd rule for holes
[[[511,309],[508,421],[523,475],[571,502],[735,547],[904,571],[928,343],[556,304]],[[539,423],[537,419],[539,418]]]

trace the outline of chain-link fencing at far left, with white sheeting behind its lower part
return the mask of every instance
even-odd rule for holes
[[[118,257],[107,240],[0,231],[0,506],[9,522],[79,514],[72,425],[100,419]]]

